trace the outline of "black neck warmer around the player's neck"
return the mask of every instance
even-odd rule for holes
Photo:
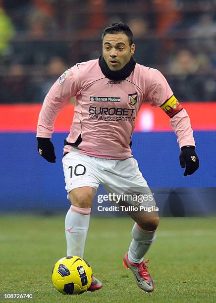
[[[99,65],[101,67],[102,73],[110,80],[124,80],[127,77],[130,76],[132,71],[134,70],[134,67],[136,65],[136,61],[131,56],[130,61],[120,70],[118,71],[112,71],[108,68],[107,63],[105,62],[105,59],[103,55],[100,55],[99,57]]]

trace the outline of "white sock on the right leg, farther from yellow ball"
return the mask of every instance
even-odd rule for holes
[[[156,231],[144,230],[135,223],[132,229],[132,237],[133,240],[129,247],[128,258],[133,263],[141,263],[143,256],[155,241]]]

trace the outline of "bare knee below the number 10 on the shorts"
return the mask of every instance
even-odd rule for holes
[[[69,193],[69,196],[71,204],[80,208],[90,208],[94,199],[91,190],[84,191],[75,189]]]

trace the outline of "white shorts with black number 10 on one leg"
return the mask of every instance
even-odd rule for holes
[[[124,194],[124,199],[130,200],[133,195],[133,202],[129,201],[129,204],[156,205],[137,160],[133,157],[123,160],[103,159],[81,154],[74,148],[62,158],[62,163],[67,193],[84,186],[93,187],[97,191],[102,184],[108,194],[115,193],[119,197]],[[139,201],[134,198],[137,195],[140,195]]]

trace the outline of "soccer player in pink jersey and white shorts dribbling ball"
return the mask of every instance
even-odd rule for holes
[[[43,103],[37,128],[38,152],[55,162],[50,141],[60,110],[76,96],[73,123],[64,141],[62,158],[68,200],[65,218],[67,255],[83,257],[91,205],[100,184],[108,193],[141,194],[148,199],[124,201],[139,205],[139,211],[125,210],[134,219],[132,242],[123,264],[131,269],[136,283],[145,292],[154,290],[144,255],[155,240],[159,224],[157,211],[148,215],[140,206],[155,206],[146,180],[131,154],[135,118],[146,99],[160,106],[170,118],[181,150],[184,176],[199,167],[190,119],[157,69],[135,62],[135,45],[130,28],[115,22],[102,35],[103,54],[95,60],[77,63],[54,83]],[[146,149],[145,142],[141,143]],[[168,147],[167,147],[168,149]],[[125,208],[126,209],[126,208]],[[92,278],[90,291],[102,288]]]

